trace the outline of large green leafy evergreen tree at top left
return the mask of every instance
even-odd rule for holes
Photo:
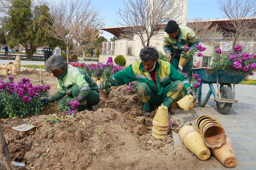
[[[39,46],[56,46],[56,40],[47,36],[43,29],[45,25],[40,24],[42,21],[49,22],[48,11],[46,5],[32,8],[31,0],[14,0],[3,23],[9,46],[13,48],[21,44],[25,47],[28,58],[33,56]]]

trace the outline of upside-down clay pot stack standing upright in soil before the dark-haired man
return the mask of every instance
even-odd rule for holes
[[[152,135],[156,139],[165,139],[169,128],[168,108],[159,106],[152,122]]]

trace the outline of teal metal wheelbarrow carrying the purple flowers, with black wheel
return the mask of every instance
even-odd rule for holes
[[[239,71],[225,71],[211,69],[207,67],[192,68],[194,74],[198,74],[202,82],[198,90],[198,104],[200,107],[204,107],[211,95],[213,94],[214,101],[216,102],[217,110],[221,114],[226,114],[230,111],[233,103],[238,103],[235,98],[235,84],[241,82],[248,73]],[[213,83],[217,83],[218,93],[216,93]],[[231,86],[233,84],[233,89]],[[206,98],[202,102],[202,84],[209,85],[209,91]]]

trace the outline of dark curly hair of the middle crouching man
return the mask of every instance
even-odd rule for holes
[[[147,46],[140,50],[139,57],[143,62],[147,62],[149,60],[156,61],[159,59],[159,54],[155,47]]]

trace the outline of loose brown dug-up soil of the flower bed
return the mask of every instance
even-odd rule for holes
[[[41,74],[41,84],[50,85],[49,93],[54,94],[57,91],[55,78],[48,72],[42,71]],[[14,82],[25,77],[33,85],[40,84],[38,70],[18,72],[14,77]],[[5,81],[8,76],[0,78]],[[185,146],[181,154],[176,154],[171,126],[167,138],[155,139],[151,128],[158,106],[151,108],[150,115],[142,116],[136,93],[126,90],[126,87],[110,89],[107,107],[101,101],[93,110],[77,112],[75,117],[58,112],[56,105],[52,104],[52,107],[43,108],[41,115],[0,119],[11,159],[25,163],[33,170],[216,168],[211,158],[210,161],[199,160]],[[46,121],[49,117],[52,121]],[[54,121],[57,119],[61,122]],[[179,129],[179,124],[171,120],[175,129]],[[21,124],[32,124],[36,128],[26,132],[12,129]]]

